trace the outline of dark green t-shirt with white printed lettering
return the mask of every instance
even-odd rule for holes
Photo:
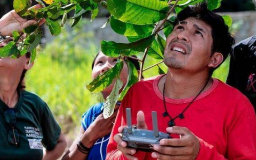
[[[19,93],[14,107],[19,132],[19,146],[11,145],[7,132],[11,126],[5,122],[4,111],[9,107],[0,99],[0,159],[42,159],[43,147],[52,150],[60,136],[60,126],[49,107],[37,95],[27,91]]]

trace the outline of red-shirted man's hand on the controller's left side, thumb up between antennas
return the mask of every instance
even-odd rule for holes
[[[136,150],[132,149],[132,148],[126,148],[127,143],[122,140],[121,132],[124,129],[124,127],[126,127],[126,126],[119,127],[118,128],[119,134],[116,134],[114,136],[114,140],[117,143],[117,149],[120,150],[127,159],[138,160],[138,158],[132,156],[133,154],[136,153]],[[143,111],[138,111],[138,114],[137,114],[137,129],[144,129],[144,130],[148,129],[147,124],[145,122],[145,115],[144,115]]]

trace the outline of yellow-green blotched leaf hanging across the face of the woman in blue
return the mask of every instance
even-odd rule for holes
[[[112,83],[113,79],[115,79],[115,77],[119,75],[122,68],[123,62],[117,62],[113,68],[97,76],[89,85],[86,85],[87,89],[92,93],[97,93],[105,90],[106,87]]]

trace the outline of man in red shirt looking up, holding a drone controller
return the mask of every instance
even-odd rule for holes
[[[169,71],[131,87],[119,108],[107,159],[256,159],[250,101],[211,78],[235,43],[225,22],[201,4],[181,11],[174,26],[164,53]],[[151,111],[157,111],[159,131],[172,139],[162,139],[152,153],[127,148],[120,132],[128,107],[138,129],[152,130]]]

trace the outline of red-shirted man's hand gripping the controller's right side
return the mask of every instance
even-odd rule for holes
[[[195,159],[199,153],[199,140],[186,127],[167,127],[166,131],[180,134],[180,139],[162,139],[155,145],[151,156],[157,159]]]

